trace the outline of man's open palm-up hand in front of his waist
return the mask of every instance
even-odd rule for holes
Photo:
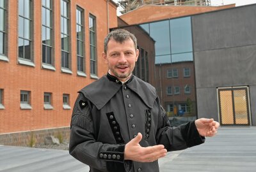
[[[137,162],[153,162],[166,155],[167,150],[164,148],[164,145],[141,147],[139,144],[141,138],[141,133],[138,133],[136,138],[125,145],[124,159]]]

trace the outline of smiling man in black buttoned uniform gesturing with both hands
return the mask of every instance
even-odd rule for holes
[[[102,53],[108,74],[79,91],[69,152],[90,171],[159,171],[166,152],[204,143],[220,125],[200,118],[170,127],[154,87],[132,75],[138,55],[133,34],[110,32]]]

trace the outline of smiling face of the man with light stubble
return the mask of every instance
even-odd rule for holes
[[[110,39],[107,53],[102,53],[110,69],[110,74],[116,76],[122,82],[125,82],[131,76],[138,55],[139,50],[135,50],[131,39],[127,39],[123,43]]]

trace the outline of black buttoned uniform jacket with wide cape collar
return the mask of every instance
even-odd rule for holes
[[[80,90],[70,129],[70,154],[93,172],[159,171],[157,161],[124,160],[125,143],[139,132],[141,147],[161,144],[168,151],[205,140],[195,121],[170,127],[156,90],[136,76],[122,84],[108,74]]]

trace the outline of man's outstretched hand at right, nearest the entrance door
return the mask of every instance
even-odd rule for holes
[[[220,123],[214,121],[212,118],[199,118],[195,120],[196,128],[201,136],[212,137],[217,133]]]

